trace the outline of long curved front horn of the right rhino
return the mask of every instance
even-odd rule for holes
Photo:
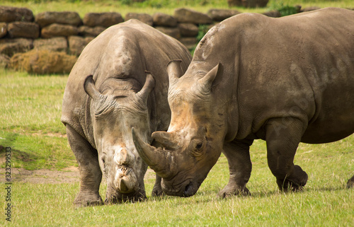
[[[134,128],[132,128],[132,139],[139,156],[155,171],[157,175],[168,178],[173,174],[173,157],[169,152],[163,151],[162,149],[156,149],[154,146],[150,146],[142,141]]]

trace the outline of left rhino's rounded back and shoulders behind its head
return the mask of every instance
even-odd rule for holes
[[[168,127],[170,110],[167,103],[169,87],[166,65],[172,59],[182,59],[185,71],[190,53],[178,40],[164,35],[137,20],[113,25],[93,39],[74,65],[64,91],[62,122],[70,124],[76,132],[93,145],[89,96],[84,91],[84,80],[93,75],[98,90],[104,89],[108,78],[134,78],[141,86],[144,71],[155,78],[154,107],[156,124]]]

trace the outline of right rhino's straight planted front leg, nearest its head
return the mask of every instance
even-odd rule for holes
[[[252,163],[249,155],[249,146],[253,140],[225,142],[224,155],[229,163],[229,183],[219,192],[219,197],[243,194],[248,195],[246,183],[251,177]]]

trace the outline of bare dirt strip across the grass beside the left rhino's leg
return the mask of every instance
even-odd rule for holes
[[[5,168],[1,168],[0,182],[5,182]],[[145,179],[154,179],[154,170],[148,169]],[[25,170],[11,168],[11,182],[30,182],[35,184],[60,184],[79,182],[79,168],[69,167],[63,170]]]

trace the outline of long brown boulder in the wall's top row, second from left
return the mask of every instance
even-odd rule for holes
[[[63,11],[63,12],[42,12],[38,13],[35,16],[35,22],[40,25],[40,28],[44,28],[47,25],[51,25],[53,23],[61,24],[61,25],[73,25],[79,26],[82,24],[79,13],[72,11]]]

